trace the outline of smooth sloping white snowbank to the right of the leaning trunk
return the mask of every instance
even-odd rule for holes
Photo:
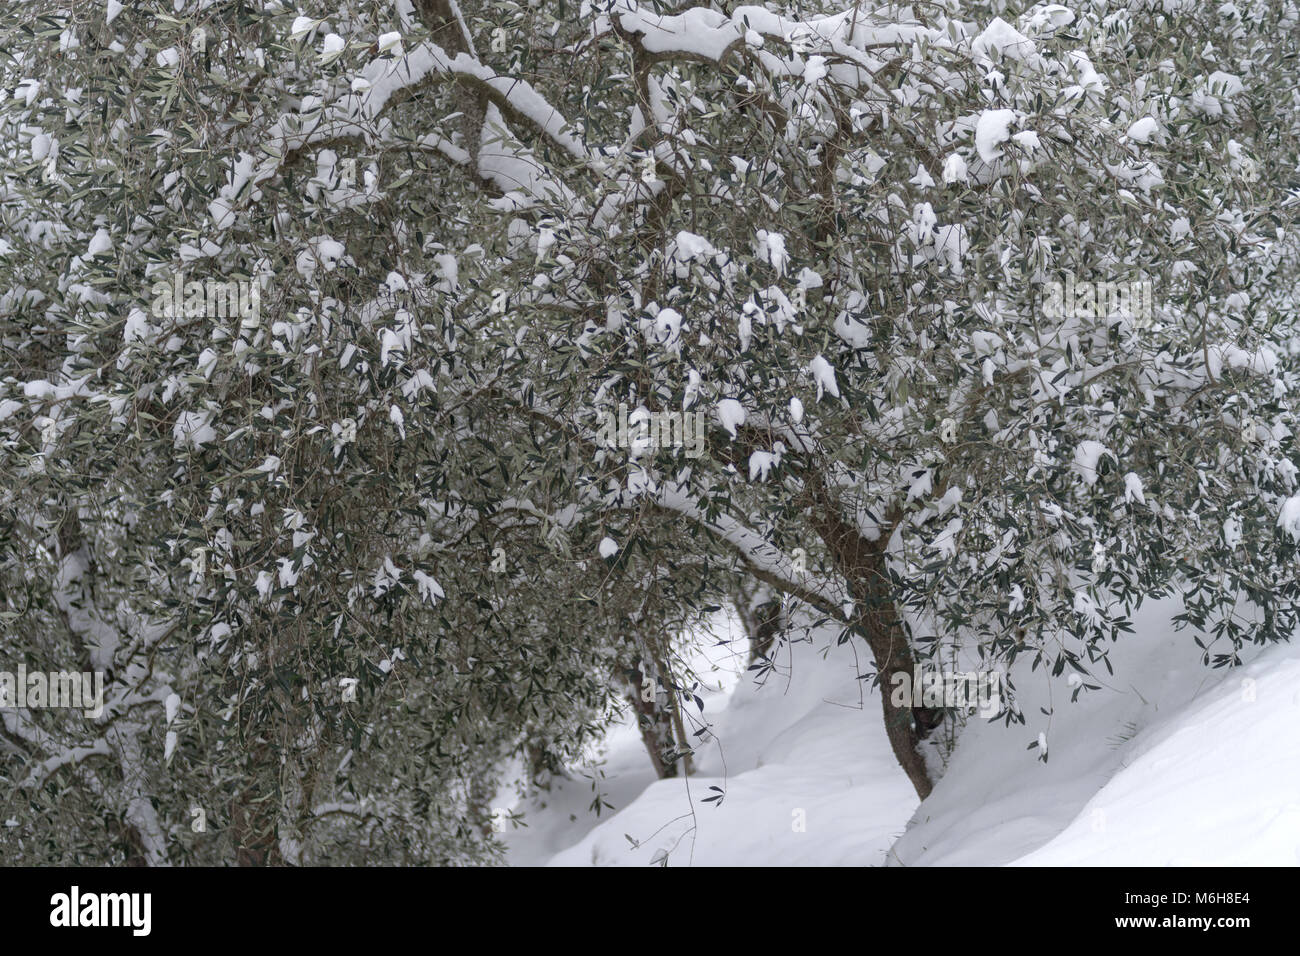
[[[1300,862],[1300,646],[1249,648],[1245,667],[1213,670],[1165,623],[1173,610],[1143,607],[1136,635],[1113,645],[1115,676],[1078,704],[1017,667],[1026,726],[968,728],[892,861]],[[1024,749],[1039,732],[1046,763]]]

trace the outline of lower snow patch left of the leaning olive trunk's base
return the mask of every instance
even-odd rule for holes
[[[716,739],[689,779],[656,780],[628,722],[603,766],[616,812],[597,821],[589,780],[569,782],[545,809],[519,808],[529,826],[507,834],[512,862],[645,865],[660,852],[670,866],[884,862],[916,797],[889,752],[880,701],[855,679],[870,658],[818,632],[783,648],[759,687],[737,675],[746,652],[733,636],[732,653],[712,650],[734,689],[705,698]],[[705,803],[711,787],[724,796]]]

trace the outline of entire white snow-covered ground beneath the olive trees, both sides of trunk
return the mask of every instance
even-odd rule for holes
[[[1249,648],[1212,670],[1173,602],[1139,611],[1114,678],[1070,701],[1028,661],[1023,726],[972,721],[924,804],[896,765],[868,661],[831,631],[783,649],[757,687],[742,650],[711,656],[716,740],[689,779],[656,780],[630,722],[592,780],[516,809],[517,865],[1164,865],[1300,862],[1300,646]],[[707,643],[707,641],[706,641]],[[744,641],[737,640],[742,649]],[[1039,735],[1048,760],[1039,758]],[[720,801],[706,803],[719,791]]]

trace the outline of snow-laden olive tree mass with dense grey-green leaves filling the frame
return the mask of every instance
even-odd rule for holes
[[[3,711],[0,809],[488,858],[738,576],[864,641],[922,796],[918,661],[1288,635],[1297,21],[6,4],[0,648],[110,689]]]

